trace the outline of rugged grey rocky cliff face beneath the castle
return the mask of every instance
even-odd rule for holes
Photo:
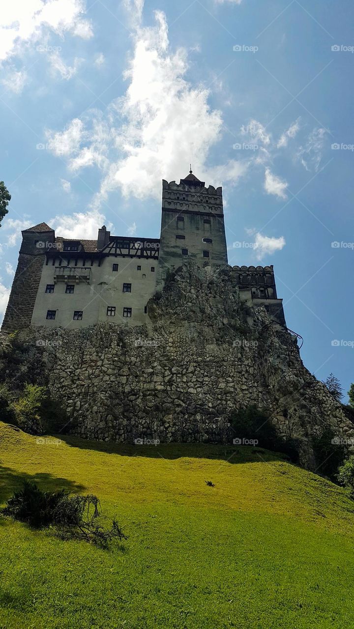
[[[242,437],[232,435],[229,416],[249,404],[266,409],[282,437],[299,440],[310,469],[312,438],[326,428],[354,439],[341,405],[302,364],[294,337],[263,307],[241,301],[230,267],[184,265],[149,301],[148,315],[135,328],[26,330],[21,377],[30,361],[40,365],[40,380],[67,408],[70,431],[91,439],[227,442]]]

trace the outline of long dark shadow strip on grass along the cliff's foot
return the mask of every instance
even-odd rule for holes
[[[157,445],[134,445],[130,443],[102,443],[73,437],[57,435],[72,448],[96,450],[106,454],[117,454],[124,457],[147,457],[149,459],[214,459],[227,460],[229,463],[259,463],[286,460],[286,454],[270,452],[261,447],[236,446],[231,444],[206,443],[159,443]]]

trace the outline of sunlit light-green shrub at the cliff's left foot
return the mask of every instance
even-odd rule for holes
[[[25,384],[21,398],[11,403],[16,423],[26,432],[34,435],[43,432],[43,425],[38,411],[45,399],[45,387],[38,384]]]

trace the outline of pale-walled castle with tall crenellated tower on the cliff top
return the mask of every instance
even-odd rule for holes
[[[96,323],[144,325],[147,302],[168,272],[188,259],[199,267],[227,265],[222,188],[205,187],[190,170],[179,184],[163,180],[160,238],[97,240],[55,236],[46,223],[22,231],[18,266],[2,330],[28,326],[77,329]],[[273,266],[234,266],[240,297],[265,306],[285,326]]]

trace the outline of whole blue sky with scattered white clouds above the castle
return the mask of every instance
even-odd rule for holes
[[[12,0],[0,27],[0,310],[20,230],[158,237],[161,179],[224,189],[229,263],[274,264],[324,379],[354,380],[349,0]],[[337,246],[333,246],[336,243]],[[2,315],[1,315],[2,316]],[[333,345],[338,340],[340,344]]]

